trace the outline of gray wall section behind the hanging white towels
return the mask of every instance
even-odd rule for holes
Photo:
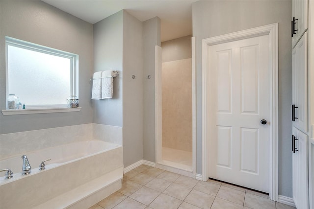
[[[92,100],[93,122],[122,127],[123,11],[94,24],[94,72],[118,70],[113,98]]]

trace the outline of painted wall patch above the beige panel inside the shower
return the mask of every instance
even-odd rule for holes
[[[161,43],[161,62],[170,62],[192,58],[192,41],[190,36],[165,41]]]

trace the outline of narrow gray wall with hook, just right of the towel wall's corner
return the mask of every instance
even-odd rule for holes
[[[123,11],[123,163],[143,159],[143,23]],[[132,75],[136,78],[132,79]]]

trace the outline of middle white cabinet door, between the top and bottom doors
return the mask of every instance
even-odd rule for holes
[[[308,132],[308,34],[292,49],[292,121]]]

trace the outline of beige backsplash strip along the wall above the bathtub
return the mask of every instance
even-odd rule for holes
[[[98,139],[122,145],[122,127],[88,123],[1,134],[0,160],[14,156],[21,157],[28,152],[88,139]]]

